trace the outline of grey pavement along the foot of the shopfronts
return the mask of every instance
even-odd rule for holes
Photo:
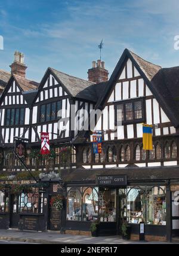
[[[44,244],[166,244],[166,242],[143,242],[123,240],[120,236],[78,236],[60,234],[58,231],[37,232],[19,230],[0,230],[0,240],[20,243]]]

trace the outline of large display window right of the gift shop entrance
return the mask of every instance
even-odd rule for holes
[[[166,225],[165,187],[129,187],[128,222]]]

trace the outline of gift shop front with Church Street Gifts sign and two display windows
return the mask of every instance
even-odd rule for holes
[[[131,239],[139,240],[144,223],[146,240],[170,238],[171,192],[166,182],[132,182],[127,175],[96,175],[95,182],[67,184],[66,233],[89,234],[98,221],[98,235],[122,234],[131,225]],[[91,184],[90,184],[91,183]]]

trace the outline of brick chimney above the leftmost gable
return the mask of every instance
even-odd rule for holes
[[[20,77],[26,77],[27,66],[24,64],[24,54],[19,51],[14,53],[14,62],[10,65],[11,74],[19,75]]]

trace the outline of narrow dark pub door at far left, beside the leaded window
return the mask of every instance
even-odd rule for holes
[[[11,195],[10,201],[10,227],[17,228],[19,221],[19,214],[18,214],[18,196]]]

